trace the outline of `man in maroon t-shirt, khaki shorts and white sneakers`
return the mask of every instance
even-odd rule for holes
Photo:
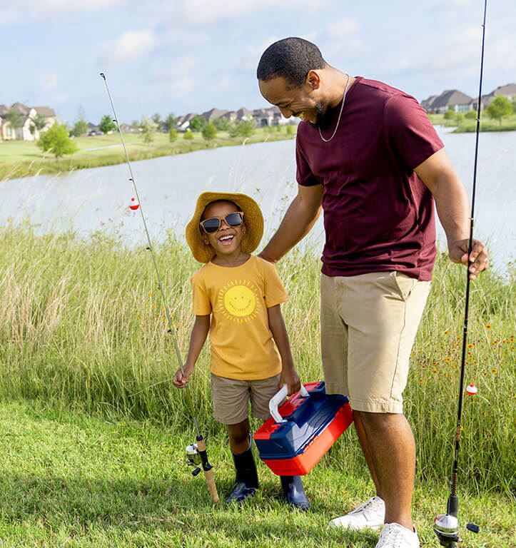
[[[257,70],[263,97],[298,116],[298,196],[260,254],[275,263],[324,211],[321,347],[326,389],[350,398],[376,496],[332,524],[379,528],[377,548],[418,547],[411,519],[415,442],[403,397],[435,261],[433,203],[450,259],[487,267],[467,196],[415,98],[348,76],[314,44],[283,39]]]

